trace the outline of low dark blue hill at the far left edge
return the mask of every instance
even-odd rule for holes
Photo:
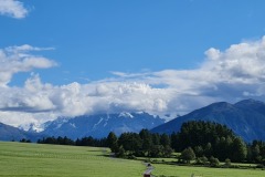
[[[41,137],[40,134],[36,133],[29,133],[22,129],[19,129],[13,126],[9,126],[6,124],[0,123],[0,140],[21,140],[22,138],[36,140]]]

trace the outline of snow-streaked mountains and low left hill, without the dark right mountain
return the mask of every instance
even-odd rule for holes
[[[109,132],[120,135],[124,132],[138,133],[142,128],[153,128],[165,123],[159,116],[148,113],[119,113],[83,115],[77,117],[59,117],[55,121],[41,125],[41,132],[34,129],[32,124],[29,131],[0,123],[0,140],[20,140],[22,138],[33,142],[47,136],[67,136],[76,139],[85,136],[94,138],[106,137]]]

